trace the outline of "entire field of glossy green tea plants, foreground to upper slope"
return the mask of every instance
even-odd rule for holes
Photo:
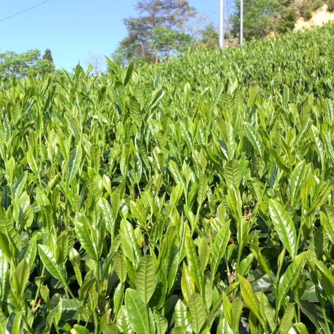
[[[334,24],[106,60],[0,83],[0,332],[332,333]]]

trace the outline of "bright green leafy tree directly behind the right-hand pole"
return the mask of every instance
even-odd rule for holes
[[[246,40],[252,37],[264,37],[273,28],[275,12],[271,0],[247,0],[243,2],[243,36]],[[232,31],[240,32],[240,0],[235,0],[235,13],[232,15]]]

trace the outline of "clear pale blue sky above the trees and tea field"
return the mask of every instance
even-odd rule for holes
[[[43,1],[1,1],[0,20]],[[49,48],[56,68],[70,70],[78,61],[87,67],[90,53],[110,56],[126,36],[122,20],[136,15],[136,3],[137,0],[50,0],[0,22],[0,53],[39,49],[43,54]],[[218,16],[211,12],[218,11],[218,0],[189,3],[218,22]]]

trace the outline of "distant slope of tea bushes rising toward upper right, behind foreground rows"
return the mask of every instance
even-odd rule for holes
[[[142,68],[147,80],[147,73],[151,75],[161,69],[163,82],[180,87],[189,82],[196,93],[221,83],[224,90],[235,85],[245,94],[254,83],[265,97],[277,99],[274,93],[287,85],[299,105],[310,93],[333,97],[334,24],[306,32],[277,34],[276,39],[246,42],[241,48],[191,51],[158,67]]]

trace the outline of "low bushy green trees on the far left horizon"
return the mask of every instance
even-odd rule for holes
[[[53,62],[41,59],[40,51],[37,49],[23,53],[7,51],[0,54],[1,77],[9,75],[22,79],[29,74],[37,76],[38,74],[51,73],[52,71],[54,71]]]

